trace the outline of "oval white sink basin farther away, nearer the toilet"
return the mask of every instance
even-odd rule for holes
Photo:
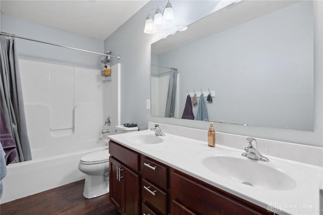
[[[135,133],[127,136],[127,141],[135,144],[157,144],[164,141],[171,140],[169,135],[166,136],[156,136],[153,132],[149,133]]]

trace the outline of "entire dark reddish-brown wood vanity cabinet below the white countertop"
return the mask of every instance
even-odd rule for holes
[[[273,214],[113,141],[109,150],[110,199],[121,214]]]

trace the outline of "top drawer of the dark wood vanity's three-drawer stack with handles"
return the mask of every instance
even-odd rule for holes
[[[143,157],[141,162],[142,178],[148,179],[150,182],[158,185],[163,189],[167,189],[167,168],[154,162],[153,160]]]

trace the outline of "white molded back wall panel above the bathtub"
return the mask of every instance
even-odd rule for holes
[[[33,159],[72,152],[77,144],[99,137],[103,122],[100,71],[19,63]]]

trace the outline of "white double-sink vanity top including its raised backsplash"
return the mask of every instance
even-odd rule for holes
[[[148,128],[154,127],[154,124],[149,122]],[[212,148],[207,146],[207,130],[160,123],[159,126],[166,133],[165,137],[160,137],[165,138],[160,144],[131,142],[130,135],[133,134],[112,135],[110,139],[263,208],[277,207],[279,214],[319,214],[323,148],[254,137],[260,153],[270,159],[270,162],[261,162],[241,156],[247,146],[247,136],[216,132],[216,147]],[[153,132],[144,130],[136,135],[138,134],[153,135]],[[267,174],[267,177],[262,180],[268,183],[258,183],[258,186],[252,187],[229,179],[230,176],[225,176],[224,173],[222,175],[214,173],[202,164],[206,157],[213,159],[219,156],[237,157],[238,162],[241,160],[250,164],[250,169],[246,169],[245,174],[254,174],[254,178],[259,179],[261,171],[268,169],[273,171],[273,174],[282,176],[284,181],[277,183],[268,181],[270,176],[268,172],[264,172],[263,176]],[[216,165],[217,159],[212,162]],[[218,169],[220,172],[221,167]],[[216,170],[214,167],[214,171]],[[237,172],[233,173],[239,174]],[[243,173],[240,171],[240,174]]]

